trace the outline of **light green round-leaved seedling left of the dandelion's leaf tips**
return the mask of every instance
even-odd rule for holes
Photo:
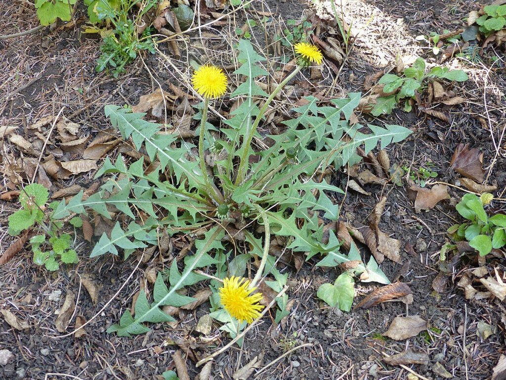
[[[64,263],[78,262],[77,253],[71,248],[71,238],[68,234],[58,234],[62,225],[60,221],[53,221],[51,213],[46,213],[46,209],[54,209],[58,203],[49,204],[49,192],[46,187],[38,183],[32,183],[26,186],[19,196],[21,209],[9,216],[9,234],[15,236],[29,229],[38,230],[39,234],[30,239],[33,252],[33,262],[37,265],[45,265],[49,271],[56,271],[59,268],[57,258]],[[46,215],[48,214],[48,215]],[[49,219],[49,226],[46,225],[46,219]],[[70,221],[74,226],[82,225],[79,217],[74,217]]]

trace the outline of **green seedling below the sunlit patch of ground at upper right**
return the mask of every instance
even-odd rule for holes
[[[455,82],[465,82],[468,75],[462,70],[450,70],[447,67],[433,67],[426,72],[426,63],[423,58],[416,58],[411,67],[404,69],[403,77],[396,74],[387,73],[379,79],[378,84],[383,84],[383,91],[388,96],[380,96],[376,99],[376,104],[371,111],[373,116],[379,116],[384,113],[390,115],[397,103],[404,100],[404,110],[411,111],[410,99],[415,99],[415,92],[422,90],[424,81],[430,78],[441,78]]]

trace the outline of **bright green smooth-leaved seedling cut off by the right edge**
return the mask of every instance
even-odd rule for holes
[[[480,198],[474,194],[463,196],[455,209],[468,221],[454,224],[448,229],[454,241],[467,240],[480,256],[487,255],[493,248],[499,249],[506,245],[506,215],[489,216],[483,207],[492,199],[493,196],[488,193],[482,194]]]

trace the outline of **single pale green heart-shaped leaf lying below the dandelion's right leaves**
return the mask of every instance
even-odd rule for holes
[[[322,284],[316,293],[317,297],[333,308],[349,312],[355,297],[355,282],[347,273],[341,274],[334,284]]]

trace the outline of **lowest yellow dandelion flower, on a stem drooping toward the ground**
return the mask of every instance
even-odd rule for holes
[[[253,322],[264,308],[258,304],[262,299],[262,293],[251,294],[256,289],[249,287],[249,280],[235,276],[226,278],[223,281],[223,287],[220,288],[223,307],[239,322]]]

